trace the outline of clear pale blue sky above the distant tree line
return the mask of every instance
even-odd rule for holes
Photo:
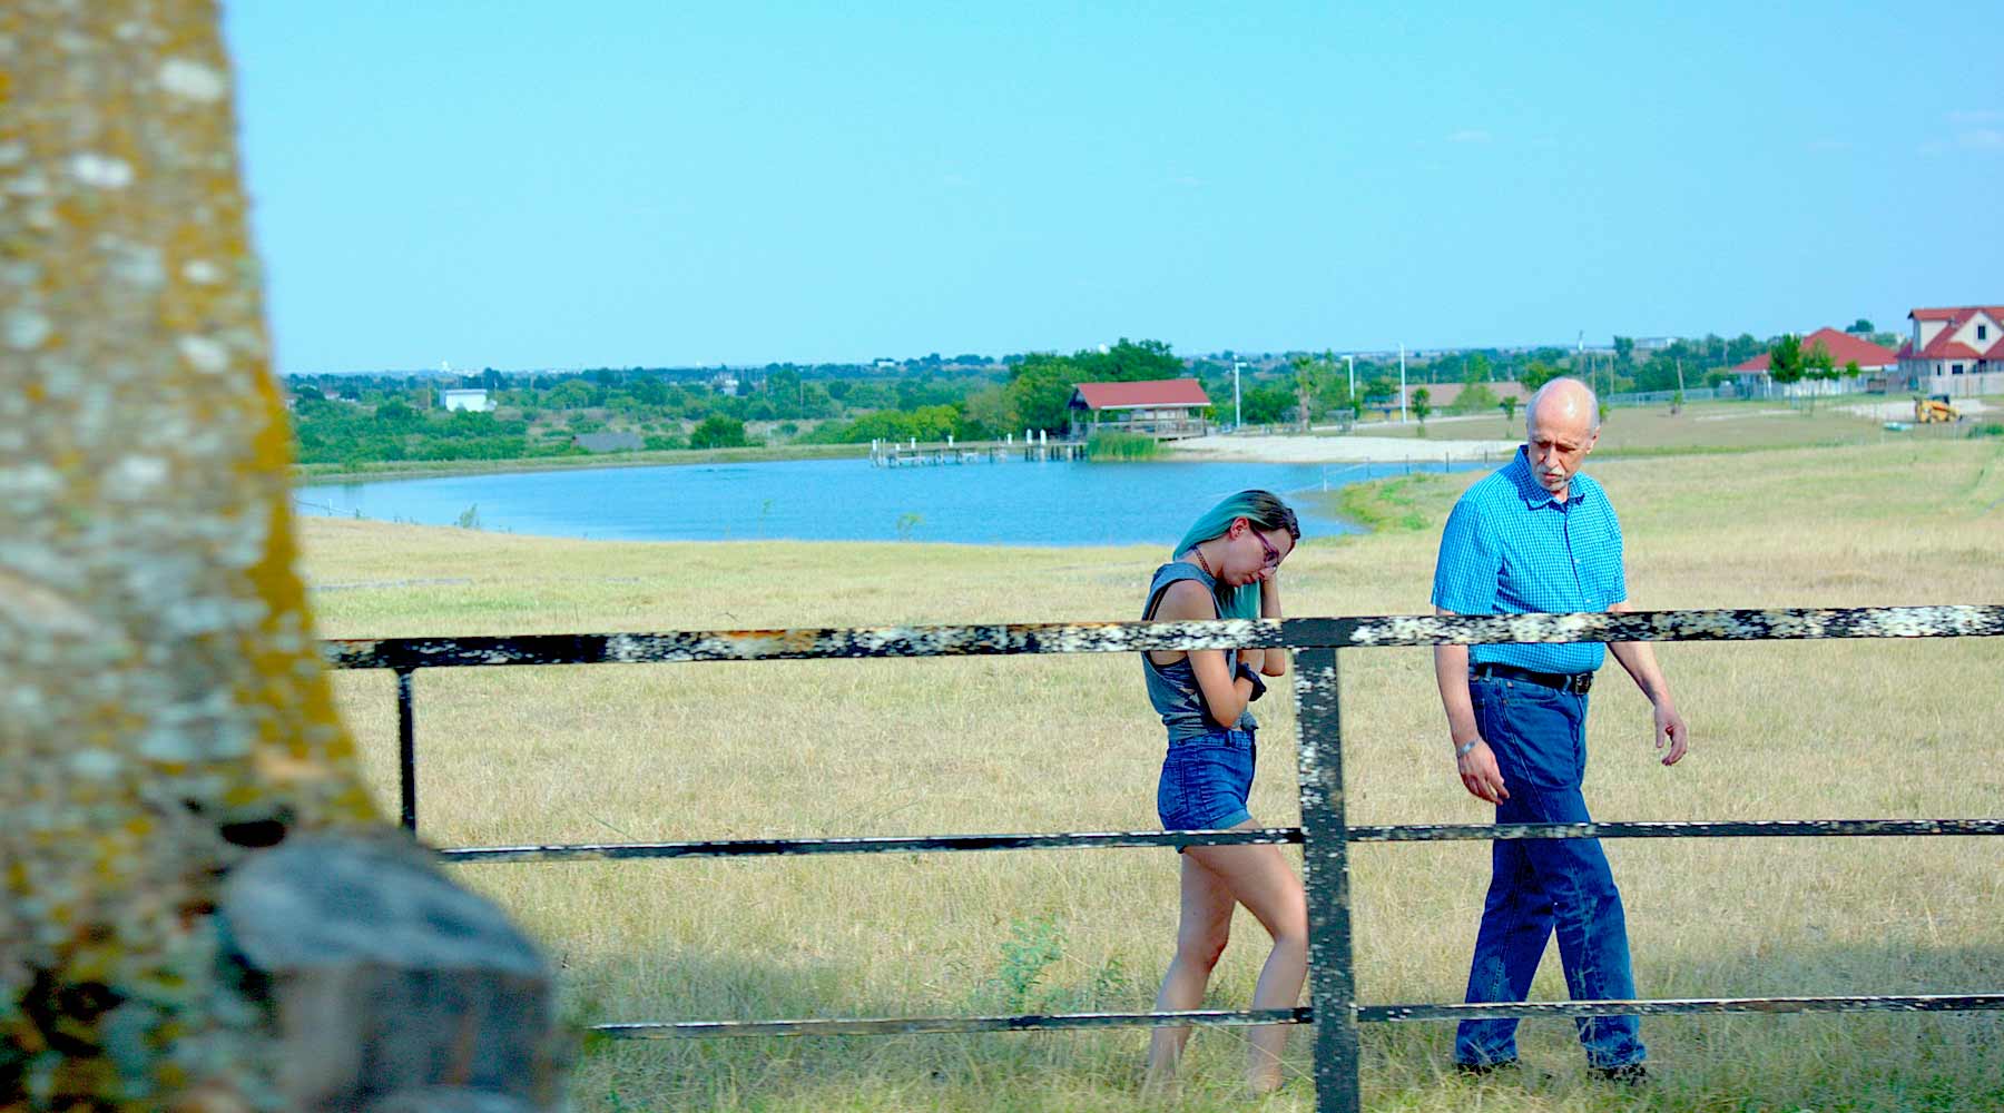
[[[2004,302],[1994,4],[1463,8],[230,2],[279,368]]]

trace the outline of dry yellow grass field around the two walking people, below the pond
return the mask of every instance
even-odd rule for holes
[[[1780,420],[1780,418],[1778,418]],[[2004,601],[1996,440],[1605,460],[1637,607]],[[1353,506],[1309,538],[1293,615],[1417,613],[1469,476]],[[1200,510],[1192,506],[1194,514]],[[609,544],[311,518],[327,637],[1126,619],[1150,548]],[[1996,641],[1669,645],[1693,749],[1663,769],[1611,669],[1591,721],[1601,819],[2004,815]],[[1349,651],[1353,823],[1487,821],[1453,777],[1421,649]],[[337,689],[393,811],[389,675]],[[421,813],[439,845],[1154,827],[1160,727],[1130,657],[471,669],[417,677]],[[1295,721],[1267,701],[1252,811],[1295,823]],[[1988,839],[1611,841],[1647,997],[2004,987]],[[1457,1001],[1487,847],[1353,861],[1359,997]],[[573,1021],[1144,1009],[1170,955],[1166,851],[1036,851],[465,867],[561,963]],[[1212,987],[1244,1007],[1263,933],[1240,915]],[[1565,997],[1547,953],[1535,997]],[[1525,1025],[1553,1077],[1469,1083],[1449,1025],[1363,1033],[1369,1109],[1994,1111],[1996,1015],[1651,1019],[1659,1081],[1583,1075],[1571,1025]],[[731,1039],[587,1049],[579,1109],[1142,1109],[1140,1029]],[[1281,1093],[1238,1095],[1242,1037],[1200,1031],[1180,1109],[1313,1107],[1309,1039]]]

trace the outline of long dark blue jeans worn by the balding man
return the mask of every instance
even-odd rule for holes
[[[1469,679],[1475,727],[1497,755],[1509,799],[1497,823],[1587,823],[1579,783],[1587,773],[1587,697],[1503,677]],[[1497,839],[1491,843],[1489,899],[1469,965],[1469,1001],[1523,1001],[1559,935],[1565,989],[1579,999],[1633,999],[1627,919],[1599,839]],[[1637,1017],[1577,1017],[1579,1043],[1593,1067],[1641,1063]],[[1517,1057],[1517,1021],[1463,1021],[1461,1063]]]

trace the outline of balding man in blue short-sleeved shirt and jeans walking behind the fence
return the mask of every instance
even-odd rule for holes
[[[1601,484],[1579,474],[1601,420],[1593,390],[1553,378],[1531,396],[1527,438],[1447,518],[1433,571],[1439,615],[1627,611],[1621,522]],[[1447,711],[1455,769],[1497,823],[1587,823],[1587,689],[1613,649],[1655,707],[1663,765],[1689,743],[1647,643],[1441,645],[1433,673]],[[1523,1001],[1557,931],[1573,999],[1633,999],[1627,921],[1599,839],[1497,839],[1489,899],[1469,965],[1469,1001]],[[1579,1043],[1605,1079],[1641,1083],[1637,1017],[1585,1017]],[[1517,1021],[1465,1021],[1455,1065],[1473,1075],[1517,1065]]]

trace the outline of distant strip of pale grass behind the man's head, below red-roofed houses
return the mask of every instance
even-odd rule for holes
[[[1970,422],[1914,426],[1904,432],[1890,432],[1880,418],[1864,418],[1840,412],[1840,406],[1860,402],[1884,402],[1882,394],[1858,394],[1838,400],[1818,400],[1816,408],[1792,408],[1788,402],[1697,402],[1671,414],[1669,406],[1621,406],[1607,412],[1601,424],[1601,442],[1595,454],[1601,458],[1623,454],[1685,454],[1685,452],[1745,452],[1766,448],[1804,448],[1836,444],[1908,444],[1954,440],[1968,436]],[[1900,398],[1892,398],[1898,402]],[[1992,402],[1996,404],[1996,402]],[[1972,422],[1996,420],[1996,414],[1978,414]],[[1413,436],[1419,438],[1419,424],[1369,426],[1361,432],[1371,436]],[[1503,420],[1497,410],[1481,418],[1427,422],[1427,438],[1487,438],[1523,436],[1523,408],[1511,420]]]

